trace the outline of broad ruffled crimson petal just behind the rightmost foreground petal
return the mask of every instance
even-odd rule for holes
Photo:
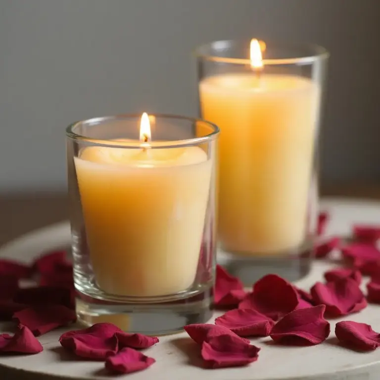
[[[358,312],[367,306],[358,283],[350,278],[327,284],[316,283],[311,288],[311,295],[316,304],[326,305],[328,317],[341,317]]]

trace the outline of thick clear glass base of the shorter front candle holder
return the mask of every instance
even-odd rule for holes
[[[89,327],[113,323],[126,332],[165,335],[182,332],[184,326],[206,323],[212,317],[211,288],[190,298],[163,303],[122,303],[105,301],[77,291],[78,322]]]

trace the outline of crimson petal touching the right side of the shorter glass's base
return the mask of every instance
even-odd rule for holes
[[[217,265],[214,288],[215,305],[237,306],[245,294],[241,281],[231,276],[221,265]]]

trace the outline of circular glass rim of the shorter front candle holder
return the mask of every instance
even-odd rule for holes
[[[138,144],[139,140],[134,140],[130,144],[128,142],[117,142],[115,140],[107,140],[107,139],[94,139],[90,136],[80,135],[78,133],[74,132],[74,128],[79,126],[80,124],[89,123],[91,124],[99,124],[106,121],[112,121],[112,120],[127,120],[127,119],[135,119],[135,118],[141,118],[142,114],[138,113],[125,113],[125,114],[117,114],[112,116],[100,116],[100,117],[93,117],[90,119],[84,119],[79,120],[74,123],[69,124],[66,127],[66,138],[72,139],[72,140],[80,140],[84,144],[92,145],[92,146],[109,146],[109,147],[115,147],[115,148],[123,148],[123,149],[141,149],[141,144]],[[180,116],[180,115],[174,115],[174,114],[164,114],[164,113],[148,113],[148,116],[154,116],[156,118],[162,118],[162,119],[172,119],[172,120],[183,120],[188,121],[192,123],[205,123],[208,125],[212,132],[209,133],[206,136],[202,137],[194,137],[191,139],[184,139],[184,140],[168,140],[168,141],[149,141],[148,142],[148,148],[176,148],[176,147],[186,147],[186,146],[192,146],[192,145],[199,145],[201,143],[215,140],[216,137],[219,135],[220,129],[219,127],[211,123],[207,120],[203,120],[200,118],[195,117],[189,117],[189,116]],[[143,144],[143,142],[141,142]]]

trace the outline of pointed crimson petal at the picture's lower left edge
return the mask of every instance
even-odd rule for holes
[[[43,349],[42,344],[25,326],[19,326],[13,336],[0,334],[0,353],[18,352],[23,354],[37,354]]]

